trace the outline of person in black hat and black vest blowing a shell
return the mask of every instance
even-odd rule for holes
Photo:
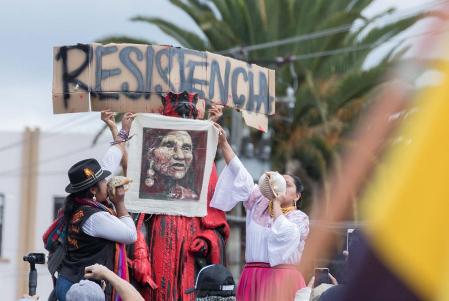
[[[129,133],[133,119],[132,113],[124,115],[121,138],[126,136],[123,133]],[[113,113],[102,111],[102,120],[117,139]],[[124,245],[134,243],[137,232],[123,203],[123,186],[116,188],[114,196],[109,196],[115,211],[107,201],[107,180],[118,168],[127,140],[127,137],[115,140],[116,144],[108,149],[101,164],[95,159],[86,159],[69,169],[70,184],[66,192],[70,195],[64,207],[66,256],[56,282],[58,300],[65,301],[72,284],[84,278],[84,268],[96,263],[129,280]],[[110,288],[106,288],[106,295],[108,299],[117,299]]]

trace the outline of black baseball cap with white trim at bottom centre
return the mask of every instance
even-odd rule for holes
[[[231,284],[225,284],[228,278],[231,278]],[[206,266],[198,273],[195,287],[186,289],[185,293],[195,290],[234,290],[234,278],[231,272],[221,264]]]

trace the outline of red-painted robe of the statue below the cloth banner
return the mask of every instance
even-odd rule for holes
[[[195,286],[198,261],[202,264],[226,264],[224,244],[229,238],[226,214],[209,206],[217,184],[215,164],[208,188],[208,215],[186,217],[153,215],[147,222],[151,276],[158,289],[146,285],[141,294],[145,300],[195,300],[195,294],[184,294]],[[148,217],[148,215],[147,215]],[[224,233],[221,238],[219,232]],[[190,251],[196,238],[207,242],[207,256]],[[197,271],[195,270],[197,267]]]

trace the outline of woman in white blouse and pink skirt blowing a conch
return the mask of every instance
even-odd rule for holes
[[[307,215],[298,210],[302,197],[301,180],[283,175],[285,194],[273,200],[262,196],[258,185],[220,130],[220,146],[226,167],[220,174],[211,206],[229,211],[238,202],[246,210],[245,268],[237,288],[237,300],[293,300],[296,291],[305,287],[297,270],[309,232]]]

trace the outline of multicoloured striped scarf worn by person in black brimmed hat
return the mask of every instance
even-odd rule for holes
[[[115,212],[107,207],[106,205],[103,205],[101,203],[88,200],[88,199],[79,199],[76,198],[75,201],[79,204],[91,206],[94,208],[98,208],[104,211],[109,212],[113,216],[115,216]],[[130,274],[128,271],[128,266],[126,263],[126,249],[124,244],[115,243],[115,258],[114,258],[114,273],[120,277],[123,280],[126,280],[127,282],[130,282]],[[112,290],[112,300],[113,301],[121,301],[120,296],[116,292],[115,288]]]

